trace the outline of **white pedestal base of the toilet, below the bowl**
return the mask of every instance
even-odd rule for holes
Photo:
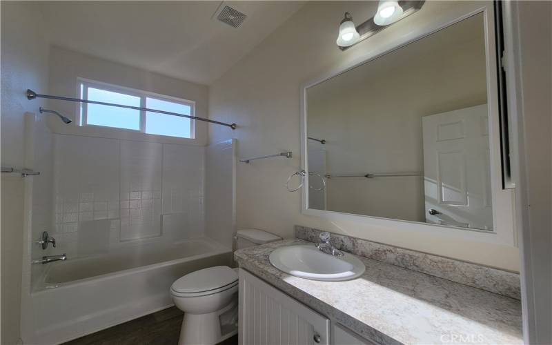
[[[178,345],[215,345],[237,334],[237,325],[221,325],[221,315],[233,309],[237,316],[237,302],[232,302],[214,313],[184,313]],[[221,334],[221,329],[224,334]]]

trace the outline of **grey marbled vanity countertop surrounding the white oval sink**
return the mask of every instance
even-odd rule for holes
[[[364,275],[347,282],[293,277],[268,261],[275,248],[306,243],[253,246],[237,250],[235,259],[240,268],[380,344],[523,343],[517,299],[364,257]]]

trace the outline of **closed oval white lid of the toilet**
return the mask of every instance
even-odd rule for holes
[[[228,266],[215,266],[196,270],[172,283],[177,293],[200,293],[217,290],[237,282],[237,273]]]

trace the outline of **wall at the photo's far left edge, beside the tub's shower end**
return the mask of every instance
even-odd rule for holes
[[[24,116],[37,112],[27,88],[48,90],[48,43],[32,1],[1,3],[1,165],[22,168]],[[32,168],[32,166],[28,166]],[[33,178],[33,177],[31,177]],[[1,343],[19,341],[23,257],[23,179],[1,179]]]

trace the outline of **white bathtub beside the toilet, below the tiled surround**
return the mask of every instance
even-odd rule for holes
[[[59,344],[172,306],[172,282],[201,268],[230,265],[229,248],[208,239],[55,262],[30,294],[25,344]]]

